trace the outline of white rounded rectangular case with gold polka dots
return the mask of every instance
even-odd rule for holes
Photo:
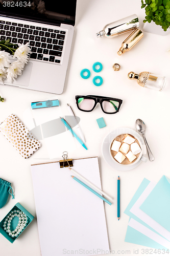
[[[0,131],[24,158],[29,158],[41,147],[41,143],[14,114],[0,124]]]

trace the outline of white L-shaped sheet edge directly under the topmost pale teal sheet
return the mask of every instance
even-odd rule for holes
[[[136,217],[138,217],[140,220],[148,224],[150,227],[152,227],[154,230],[156,230],[158,233],[160,233],[164,238],[166,238],[168,241],[170,241],[170,232],[167,231],[164,227],[162,227],[159,223],[157,223],[155,220],[153,220],[150,216],[145,214],[144,211],[142,211],[139,207],[141,204],[145,201],[145,199],[149,196],[153,188],[155,187],[156,182],[151,181],[147,188],[143,191],[141,196],[138,198],[136,203],[133,205],[133,207],[130,209],[132,214],[134,214]]]

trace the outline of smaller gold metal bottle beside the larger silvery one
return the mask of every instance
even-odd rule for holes
[[[121,55],[126,51],[130,51],[137,42],[143,37],[140,29],[135,29],[122,43],[122,47],[118,50],[117,54]]]

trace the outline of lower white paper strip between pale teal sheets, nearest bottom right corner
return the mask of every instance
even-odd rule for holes
[[[159,236],[159,234],[157,234],[154,231],[152,231],[151,229],[143,226],[141,223],[135,221],[134,219],[130,219],[130,221],[128,223],[128,226],[136,229],[140,233],[142,233],[145,236],[151,238],[152,240],[154,240],[158,244],[161,244],[165,248],[167,248],[167,249],[170,248],[170,242],[169,241],[167,241],[166,239],[162,238],[161,236]]]

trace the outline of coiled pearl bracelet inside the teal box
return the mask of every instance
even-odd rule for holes
[[[11,231],[11,222],[14,217],[18,217],[18,225],[16,226],[15,230]],[[12,210],[9,215],[6,216],[4,221],[4,230],[11,236],[12,238],[17,237],[20,232],[27,226],[28,217],[25,215],[23,211],[20,210]]]

